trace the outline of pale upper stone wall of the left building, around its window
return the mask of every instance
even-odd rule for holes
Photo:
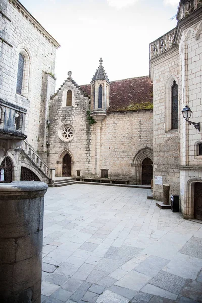
[[[27,140],[37,149],[39,136],[39,115],[41,110],[41,90],[43,71],[54,74],[54,39],[42,29],[41,25],[22,7],[18,1],[1,0],[0,43],[0,98],[27,109],[25,134]],[[48,40],[49,39],[49,40]],[[56,41],[55,41],[56,42]],[[25,70],[25,95],[16,93],[19,52],[27,54]],[[52,88],[52,94],[54,87]]]

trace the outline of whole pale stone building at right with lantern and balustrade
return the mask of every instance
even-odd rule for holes
[[[180,197],[187,219],[202,220],[202,2],[181,0],[177,27],[150,44],[154,91],[154,176]],[[192,111],[189,124],[185,106]],[[196,123],[196,124],[195,124]],[[195,124],[195,125],[194,125]],[[163,199],[155,184],[154,198]]]

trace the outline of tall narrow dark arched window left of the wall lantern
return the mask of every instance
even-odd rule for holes
[[[171,129],[178,128],[178,85],[173,81],[171,87]]]

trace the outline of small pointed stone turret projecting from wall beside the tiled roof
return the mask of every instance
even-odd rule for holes
[[[90,116],[98,121],[103,121],[107,116],[110,102],[110,81],[100,58],[98,69],[91,81],[91,112]]]

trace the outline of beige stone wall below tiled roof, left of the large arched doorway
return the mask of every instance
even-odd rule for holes
[[[102,122],[100,168],[109,170],[109,178],[136,181],[133,159],[141,149],[153,148],[152,129],[152,110],[107,115]]]

